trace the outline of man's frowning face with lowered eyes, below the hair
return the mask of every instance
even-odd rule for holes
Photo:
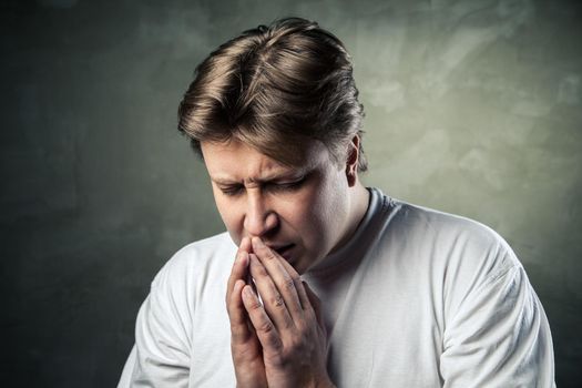
[[[303,274],[344,243],[348,180],[327,147],[313,141],[289,167],[233,140],[203,142],[214,198],[235,244],[259,236]]]

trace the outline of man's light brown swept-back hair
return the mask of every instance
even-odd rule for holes
[[[212,52],[180,104],[178,129],[198,152],[202,142],[235,139],[287,165],[318,140],[343,164],[363,116],[344,44],[316,22],[289,18]],[[366,169],[360,143],[358,171]]]

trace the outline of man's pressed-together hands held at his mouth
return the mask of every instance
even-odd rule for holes
[[[246,283],[248,275],[256,289]],[[241,242],[226,308],[237,387],[334,386],[326,370],[319,299],[295,268],[258,237]]]

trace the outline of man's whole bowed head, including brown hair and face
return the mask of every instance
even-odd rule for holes
[[[367,204],[346,50],[316,23],[285,19],[221,45],[196,72],[178,127],[203,155],[233,241],[259,236],[307,270],[349,238]]]

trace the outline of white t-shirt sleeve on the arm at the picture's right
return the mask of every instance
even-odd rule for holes
[[[548,319],[514,258],[474,287],[448,321],[443,387],[555,387],[553,368]]]

